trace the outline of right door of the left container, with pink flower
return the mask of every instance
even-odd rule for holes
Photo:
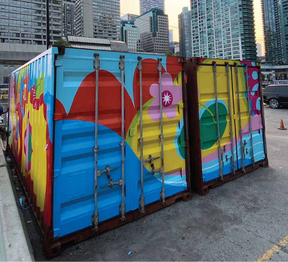
[[[127,54],[127,58],[128,55],[132,54]],[[165,201],[165,198],[187,189],[186,119],[183,118],[185,90],[182,88],[181,63],[177,57],[160,57],[162,61],[157,60],[159,56],[142,54],[142,59],[129,60],[134,101],[131,108],[135,106],[136,110],[126,136],[126,157],[133,163],[132,210],[140,206],[141,212],[145,211],[147,204]],[[126,71],[126,84],[130,72]],[[188,171],[187,174],[189,179]]]

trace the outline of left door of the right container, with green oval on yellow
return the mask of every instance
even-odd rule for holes
[[[225,60],[201,59],[197,85],[202,174],[207,182],[235,172],[237,158],[230,66],[225,66]]]

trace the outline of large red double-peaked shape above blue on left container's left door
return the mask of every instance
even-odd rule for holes
[[[62,103],[56,99],[55,114],[62,119],[95,123],[95,72],[90,73],[80,84],[68,115]],[[99,70],[98,124],[110,128],[121,136],[121,83],[110,72]],[[125,135],[136,115],[132,100],[124,88]]]

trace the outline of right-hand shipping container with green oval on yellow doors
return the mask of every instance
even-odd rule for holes
[[[186,67],[191,183],[205,195],[268,166],[261,68],[199,57],[188,58]]]

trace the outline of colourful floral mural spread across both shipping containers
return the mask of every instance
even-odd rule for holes
[[[95,211],[95,88],[94,50],[66,48],[65,55],[52,47],[37,59],[10,74],[10,152],[41,226],[62,237],[92,225]],[[98,214],[99,223],[119,216],[121,146],[121,71],[119,52],[99,51],[98,94]],[[137,210],[141,196],[140,74],[139,54],[125,54],[124,70],[124,201],[125,211]],[[143,90],[143,159],[145,205],[160,200],[164,164],[165,196],[187,189],[185,125],[183,118],[182,67],[177,57],[141,54]],[[157,58],[162,58],[162,93],[159,92]],[[233,61],[234,62],[234,61]],[[202,63],[211,63],[202,59]],[[217,60],[217,63],[224,61]],[[237,61],[239,65],[242,61]],[[252,63],[249,65],[253,65]],[[245,166],[251,164],[248,103],[251,105],[255,162],[263,159],[260,93],[255,68],[248,78],[239,67],[239,93]],[[54,72],[56,75],[54,77]],[[233,75],[233,74],[232,74]],[[240,168],[240,138],[237,92],[231,89],[233,140],[231,146],[227,74],[217,68],[219,128],[223,150],[223,174],[231,173],[231,155]],[[246,81],[250,101],[247,99]],[[56,82],[54,82],[56,81]],[[203,181],[219,177],[215,90],[212,67],[197,70]],[[230,86],[235,83],[235,75]],[[235,87],[235,85],[234,85]],[[54,94],[54,92],[56,92]],[[164,159],[161,159],[160,103],[163,108]],[[231,102],[232,103],[232,102]],[[55,112],[54,112],[55,109]],[[54,114],[54,115],[53,115]],[[235,120],[235,121],[234,121]],[[53,125],[54,124],[54,125]],[[52,141],[54,144],[52,145]],[[52,148],[53,146],[53,148]],[[113,170],[109,174],[105,168]],[[113,182],[109,184],[110,179]],[[53,181],[53,185],[52,185]],[[41,217],[42,216],[42,217]],[[51,225],[51,221],[52,225]],[[51,226],[51,227],[50,227]]]

